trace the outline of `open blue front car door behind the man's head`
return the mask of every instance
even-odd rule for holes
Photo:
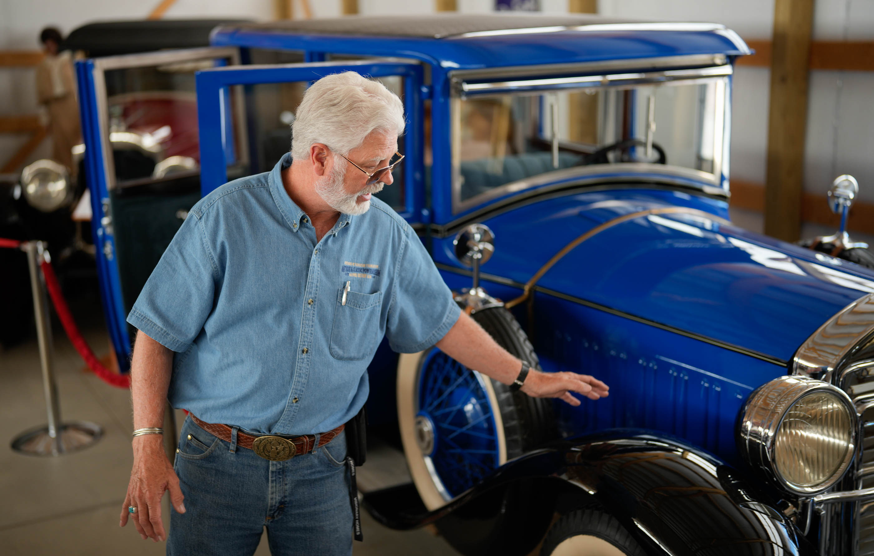
[[[228,181],[235,169],[235,149],[249,149],[244,175],[266,172],[291,146],[290,124],[309,83],[330,73],[358,72],[379,79],[404,101],[407,121],[398,138],[406,159],[394,173],[394,183],[378,193],[383,201],[413,225],[423,216],[424,170],[422,148],[422,67],[393,58],[371,58],[305,64],[216,67],[197,73],[200,128],[201,190],[203,195]],[[246,129],[229,117],[241,89],[246,105]],[[236,131],[234,131],[236,130]],[[236,143],[229,142],[236,138]],[[239,166],[239,165],[238,165]],[[237,172],[239,174],[239,170]]]

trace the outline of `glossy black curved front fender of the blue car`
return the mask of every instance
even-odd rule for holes
[[[647,553],[817,554],[794,523],[731,466],[681,441],[621,431],[560,441],[518,457],[435,511],[425,510],[413,484],[368,493],[364,507],[383,525],[412,529],[462,507],[469,513],[478,498],[489,498],[486,493],[532,481],[557,493],[557,505],[543,510],[596,503]],[[532,509],[500,509],[514,510]]]

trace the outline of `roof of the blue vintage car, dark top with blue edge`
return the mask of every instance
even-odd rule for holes
[[[751,53],[721,24],[591,15],[432,14],[225,24],[212,32],[212,44],[417,58],[453,69]]]

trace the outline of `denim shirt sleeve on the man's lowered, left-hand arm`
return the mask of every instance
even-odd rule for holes
[[[128,322],[175,352],[184,352],[198,337],[212,311],[218,268],[194,213],[164,251]]]

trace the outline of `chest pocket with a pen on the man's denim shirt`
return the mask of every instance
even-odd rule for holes
[[[379,343],[379,312],[382,292],[337,292],[334,326],[330,333],[330,354],[335,359],[357,361],[372,354]]]

